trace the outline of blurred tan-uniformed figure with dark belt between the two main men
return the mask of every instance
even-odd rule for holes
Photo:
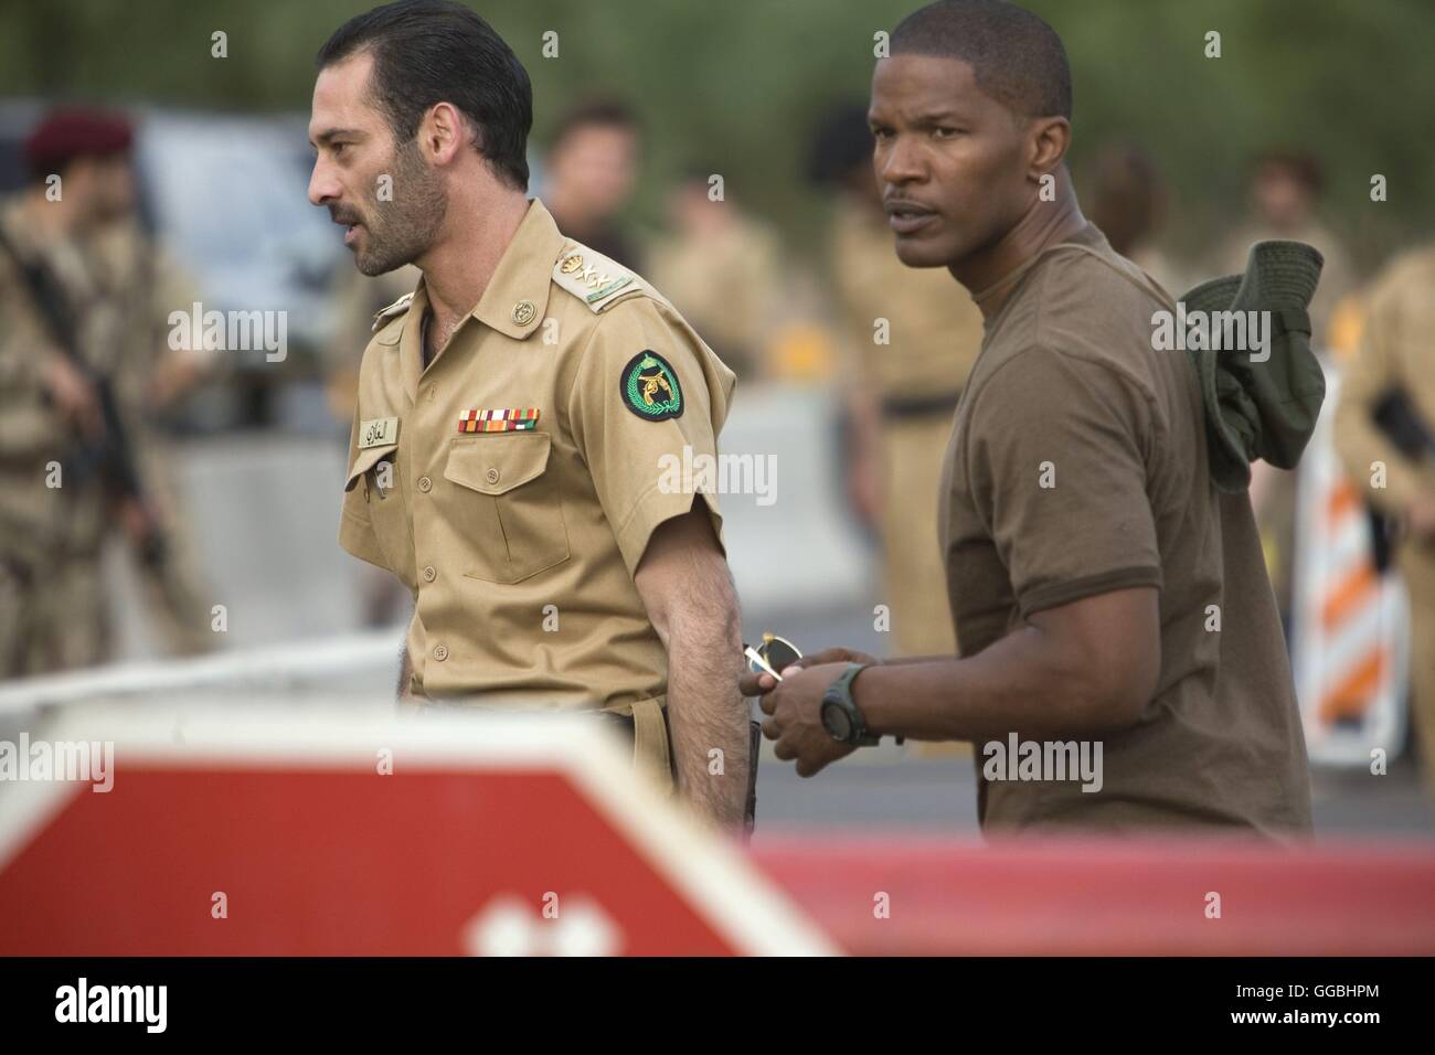
[[[937,484],[957,398],[982,347],[982,313],[946,268],[916,270],[897,258],[864,106],[844,106],[821,126],[809,175],[834,197],[829,253],[848,359],[848,492],[883,535],[893,652],[950,656],[956,634],[938,589]]]

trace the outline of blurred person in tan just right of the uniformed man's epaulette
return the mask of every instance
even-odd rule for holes
[[[672,234],[647,271],[739,376],[763,373],[784,293],[776,234],[736,202],[710,197],[712,169],[693,168],[667,201]]]

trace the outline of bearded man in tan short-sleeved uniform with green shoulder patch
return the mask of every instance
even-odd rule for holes
[[[366,274],[423,273],[364,350],[340,543],[413,593],[406,696],[627,719],[644,769],[736,827],[736,597],[716,498],[672,468],[716,455],[732,372],[527,200],[528,80],[507,44],[458,6],[420,17],[464,70],[452,85],[387,80],[419,32],[396,34],[413,14],[392,9],[319,57],[310,201]],[[402,112],[372,103],[393,93]]]

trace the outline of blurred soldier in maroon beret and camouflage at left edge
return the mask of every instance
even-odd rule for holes
[[[138,543],[156,538],[144,501],[115,494],[122,438],[98,372],[112,352],[82,250],[132,204],[131,141],[102,111],[47,115],[24,145],[29,187],[0,207],[0,677],[109,657],[112,500]]]

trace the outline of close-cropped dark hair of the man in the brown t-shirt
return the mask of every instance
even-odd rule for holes
[[[1026,118],[1072,116],[1072,72],[1056,30],[1003,0],[937,0],[893,30],[893,55],[970,63],[977,88]]]

